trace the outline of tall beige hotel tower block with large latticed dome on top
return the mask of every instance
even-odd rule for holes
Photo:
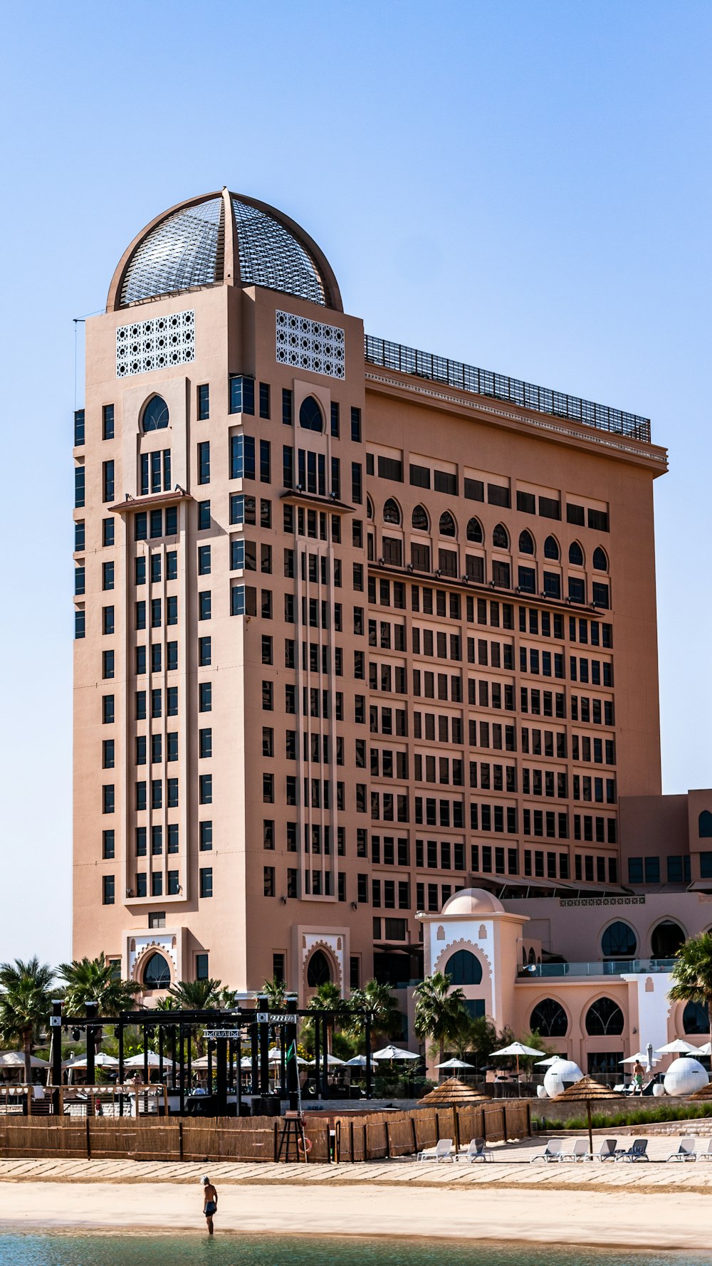
[[[621,895],[660,794],[645,418],[364,334],[223,190],[86,323],[73,953],[304,1003],[462,887]]]

